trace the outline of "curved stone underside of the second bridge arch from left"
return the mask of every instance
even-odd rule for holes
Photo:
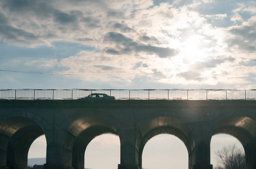
[[[116,128],[105,119],[98,117],[78,118],[65,131],[63,162],[74,169],[83,169],[87,145],[94,137],[106,133],[118,135]]]

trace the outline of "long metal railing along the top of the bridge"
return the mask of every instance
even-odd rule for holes
[[[9,100],[74,100],[93,93],[107,94],[119,100],[256,100],[256,90],[55,90],[2,89],[0,99]]]

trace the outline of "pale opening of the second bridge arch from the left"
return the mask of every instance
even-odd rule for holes
[[[117,135],[96,136],[85,150],[85,168],[113,169],[120,163],[120,139]]]

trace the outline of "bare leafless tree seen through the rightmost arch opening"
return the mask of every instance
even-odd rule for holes
[[[245,169],[245,154],[236,145],[224,146],[221,150],[215,152],[217,159],[222,167],[218,169]]]

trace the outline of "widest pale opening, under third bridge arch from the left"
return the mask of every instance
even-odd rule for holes
[[[182,140],[170,134],[152,137],[145,144],[143,168],[184,169],[188,168],[188,150]]]

